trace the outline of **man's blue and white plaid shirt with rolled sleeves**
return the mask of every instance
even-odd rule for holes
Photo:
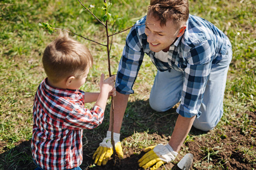
[[[227,57],[231,47],[228,37],[212,23],[189,15],[183,36],[170,46],[168,62],[155,58],[144,33],[146,16],[131,28],[126,38],[117,73],[116,90],[121,94],[133,94],[132,90],[144,53],[159,71],[183,71],[184,82],[181,102],[176,112],[184,117],[199,116],[199,108],[212,65]]]

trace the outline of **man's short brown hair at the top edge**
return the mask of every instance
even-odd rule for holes
[[[188,20],[188,0],[151,0],[148,14],[160,20],[161,26],[166,25],[167,20],[180,26]]]

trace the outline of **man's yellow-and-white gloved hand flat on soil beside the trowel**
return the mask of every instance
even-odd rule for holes
[[[162,164],[171,162],[177,156],[177,152],[172,150],[168,143],[167,145],[159,144],[147,147],[144,149],[144,152],[147,153],[138,160],[139,167],[147,169],[155,164],[150,170],[158,169]]]

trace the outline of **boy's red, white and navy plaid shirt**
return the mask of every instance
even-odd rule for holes
[[[32,156],[43,169],[71,169],[82,163],[82,129],[100,125],[104,111],[84,108],[84,92],[48,86],[36,91],[33,106]]]

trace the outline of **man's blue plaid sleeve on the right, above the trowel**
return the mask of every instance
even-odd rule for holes
[[[212,41],[205,40],[187,53],[181,102],[176,110],[183,117],[200,116],[199,109],[212,66],[212,48]]]

